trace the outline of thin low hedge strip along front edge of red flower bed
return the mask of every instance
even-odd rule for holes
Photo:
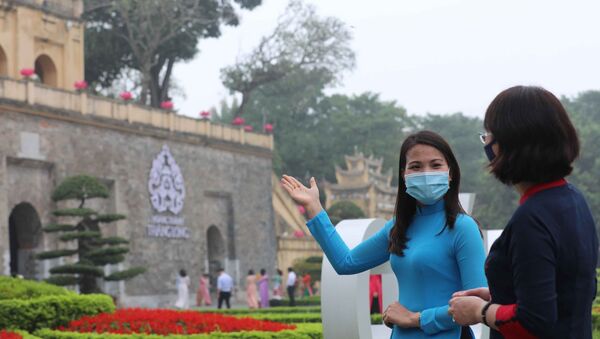
[[[75,333],[61,332],[49,329],[43,329],[35,332],[43,339],[322,339],[323,326],[321,324],[296,324],[296,330],[287,330],[280,332],[230,332],[230,333],[210,333],[210,334],[191,334],[191,335],[146,335],[146,334],[97,334],[97,333]]]

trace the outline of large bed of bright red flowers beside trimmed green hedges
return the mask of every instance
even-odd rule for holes
[[[73,320],[69,326],[59,330],[70,332],[96,333],[145,333],[145,334],[196,334],[239,331],[277,332],[295,329],[294,325],[252,318],[236,318],[222,314],[200,313],[194,311],[121,309],[115,313],[103,313],[85,316]]]

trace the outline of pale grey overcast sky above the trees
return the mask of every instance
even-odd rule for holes
[[[410,114],[482,116],[499,91],[540,85],[557,95],[600,89],[598,0],[310,0],[322,16],[352,30],[356,68],[329,93],[380,93]],[[220,69],[250,52],[275,27],[286,0],[263,0],[237,27],[200,41],[200,53],[175,67],[197,116],[231,97]]]

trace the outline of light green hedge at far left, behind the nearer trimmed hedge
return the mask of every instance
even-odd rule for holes
[[[0,300],[33,299],[48,295],[75,295],[75,293],[44,282],[0,276]]]

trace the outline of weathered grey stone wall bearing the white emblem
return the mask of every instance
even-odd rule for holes
[[[52,189],[65,177],[82,173],[109,184],[113,195],[99,207],[127,215],[127,220],[104,229],[131,241],[123,268],[148,268],[124,284],[105,286],[126,304],[172,303],[180,268],[188,271],[191,292],[195,291],[200,274],[209,269],[210,226],[218,229],[224,241],[222,265],[232,276],[238,275],[238,283],[248,268],[264,267],[273,273],[277,244],[268,148],[1,99],[0,140],[0,267],[4,274],[10,272],[7,224],[14,206],[28,202],[43,225],[53,222],[50,212],[57,206],[50,200]],[[147,225],[158,214],[150,203],[149,172],[164,145],[183,175],[185,201],[178,216],[189,229],[188,239],[147,235]],[[55,235],[44,234],[35,250],[58,246]],[[39,277],[52,264],[40,265]]]

